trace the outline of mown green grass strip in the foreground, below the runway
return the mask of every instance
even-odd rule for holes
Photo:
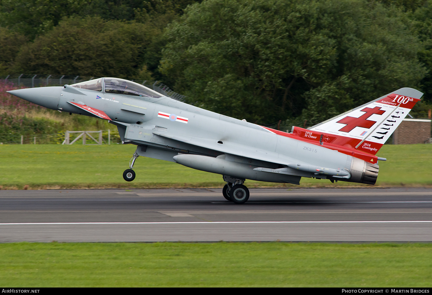
[[[431,287],[431,244],[0,244],[1,287]]]

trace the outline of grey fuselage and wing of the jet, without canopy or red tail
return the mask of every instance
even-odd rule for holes
[[[138,97],[65,87],[10,91],[35,104],[97,117],[69,102],[104,111],[121,140],[138,146],[140,156],[178,162],[233,179],[299,184],[301,177],[362,182],[367,164],[317,144],[277,135],[262,126],[234,119],[170,97]],[[160,113],[186,118],[181,122]],[[178,157],[176,157],[178,156]],[[329,176],[289,165],[326,167],[345,176]],[[378,170],[377,170],[378,172]]]

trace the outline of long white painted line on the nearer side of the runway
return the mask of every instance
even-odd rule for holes
[[[178,222],[35,222],[0,223],[0,225],[55,225],[55,224],[216,224],[216,223],[432,223],[432,220],[390,220],[390,221],[178,221]]]

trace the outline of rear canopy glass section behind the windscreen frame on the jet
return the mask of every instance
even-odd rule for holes
[[[144,96],[144,97],[162,97],[162,94],[159,94],[156,91],[153,91],[143,85],[138,83],[127,81],[118,78],[104,78],[105,82],[105,92],[114,93],[114,94],[127,94],[127,95],[135,95],[135,96]]]

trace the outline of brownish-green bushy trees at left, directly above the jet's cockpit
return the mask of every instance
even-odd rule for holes
[[[130,78],[142,69],[145,49],[157,33],[158,29],[136,22],[71,17],[22,47],[16,68],[19,72]],[[141,72],[142,78],[150,79],[149,73]]]

